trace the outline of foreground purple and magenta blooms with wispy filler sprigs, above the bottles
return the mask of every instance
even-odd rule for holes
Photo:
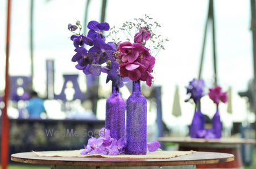
[[[155,29],[160,27],[157,22],[153,22],[152,18],[146,15],[145,19],[135,19],[134,23],[123,23],[119,30],[127,36],[128,41],[125,42],[116,39],[119,30],[113,27],[109,34],[113,41],[106,43],[104,31],[110,29],[106,22],[98,23],[93,20],[87,27],[89,32],[85,36],[81,34],[82,27],[79,21],[76,24],[68,24],[69,31],[75,33],[71,36],[76,48],[72,61],[77,62],[77,69],[95,76],[100,75],[101,72],[107,73],[106,83],[111,80],[117,87],[122,87],[123,82],[129,79],[145,81],[148,86],[152,85],[154,77],[151,73],[155,65],[155,57],[151,54],[155,53],[156,56],[168,41],[154,33]],[[78,33],[75,32],[77,29],[79,29]],[[132,31],[135,32],[134,37]],[[130,42],[129,38],[133,38],[134,42]]]

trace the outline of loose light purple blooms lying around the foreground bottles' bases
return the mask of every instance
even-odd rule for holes
[[[110,130],[102,128],[100,130],[100,137],[92,137],[88,140],[88,144],[84,146],[80,154],[103,154],[103,155],[118,155],[125,153],[126,140],[125,137],[115,138],[110,137]],[[158,141],[151,141],[147,143],[147,149],[150,152],[158,150],[160,143]]]

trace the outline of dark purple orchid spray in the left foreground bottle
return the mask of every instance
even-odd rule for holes
[[[68,25],[68,29],[72,32],[78,27],[81,29],[80,22],[77,22],[76,25]],[[101,72],[107,73],[106,83],[111,80],[115,86],[122,87],[127,78],[122,78],[119,74],[119,64],[115,59],[117,45],[113,42],[106,43],[106,37],[103,34],[103,31],[109,30],[109,24],[92,20],[87,27],[89,29],[87,36],[80,35],[80,33],[71,36],[76,48],[76,54],[72,57],[72,61],[77,62],[76,68],[82,70],[86,75],[98,76]],[[89,46],[88,50],[85,48],[86,46]],[[107,65],[103,66],[105,63]]]

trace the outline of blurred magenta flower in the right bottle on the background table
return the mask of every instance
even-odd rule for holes
[[[217,105],[220,102],[226,103],[228,101],[227,93],[226,92],[222,92],[220,86],[216,86],[216,87],[210,88],[209,91],[210,91],[209,92],[210,99],[212,99],[213,102],[216,103]]]

